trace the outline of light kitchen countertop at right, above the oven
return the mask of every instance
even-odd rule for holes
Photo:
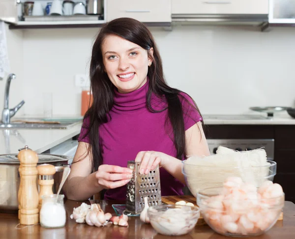
[[[295,119],[288,113],[275,113],[273,117],[266,114],[248,115],[203,115],[205,124],[253,124],[253,125],[295,125]]]

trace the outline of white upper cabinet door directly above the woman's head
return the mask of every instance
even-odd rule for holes
[[[120,17],[141,22],[171,22],[171,0],[107,0],[107,21]]]

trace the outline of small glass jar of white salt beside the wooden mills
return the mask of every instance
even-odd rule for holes
[[[64,227],[66,213],[63,205],[64,195],[43,195],[40,210],[40,224],[45,228]]]

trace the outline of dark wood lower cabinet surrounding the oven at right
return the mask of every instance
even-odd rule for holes
[[[295,125],[221,125],[204,126],[207,139],[274,139],[274,182],[282,185],[287,201],[295,203]]]

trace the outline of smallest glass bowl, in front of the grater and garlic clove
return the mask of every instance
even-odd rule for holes
[[[179,236],[194,229],[200,218],[200,209],[181,205],[152,206],[148,208],[148,217],[157,233]]]

